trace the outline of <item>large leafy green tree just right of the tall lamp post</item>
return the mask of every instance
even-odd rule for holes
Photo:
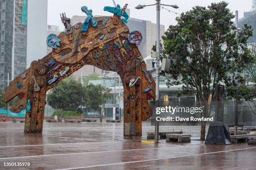
[[[177,17],[177,25],[170,25],[163,36],[164,57],[171,60],[169,73],[173,80],[168,86],[183,84],[184,92],[196,95],[200,105],[205,105],[203,117],[209,117],[211,105],[205,101],[213,96],[216,85],[225,72],[241,71],[252,57],[247,49],[252,29],[245,25],[233,32],[234,15],[228,3],[193,7]],[[206,122],[201,122],[201,140],[205,140]]]

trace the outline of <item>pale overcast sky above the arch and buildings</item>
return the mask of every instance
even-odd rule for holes
[[[191,10],[194,6],[205,6],[207,7],[212,2],[221,2],[223,0],[161,0],[161,4],[167,5],[178,5],[179,9],[174,9],[172,7],[166,7],[177,13],[186,12]],[[252,0],[225,0],[229,3],[228,8],[231,12],[235,13],[236,10],[239,11],[239,18],[243,18],[243,12],[251,10]],[[137,10],[138,4],[149,5],[154,4],[155,0],[115,0],[117,4],[121,7],[125,3],[128,3],[128,8],[130,8],[130,17],[138,18],[142,20],[149,20],[152,23],[156,23],[156,7],[150,6],[141,10]],[[60,29],[63,30],[64,26],[61,23],[59,14],[66,13],[68,18],[72,18],[73,15],[84,15],[82,13],[81,7],[87,6],[92,9],[93,15],[112,15],[106,11],[103,11],[104,6],[114,6],[112,0],[48,0],[48,24],[59,25]],[[171,13],[168,10],[161,9],[160,22],[161,25],[165,25],[165,29],[169,25],[176,24],[175,18],[179,16],[175,13]]]

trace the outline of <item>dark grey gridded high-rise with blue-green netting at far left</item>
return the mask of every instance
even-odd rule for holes
[[[26,70],[27,0],[0,0],[0,88]]]

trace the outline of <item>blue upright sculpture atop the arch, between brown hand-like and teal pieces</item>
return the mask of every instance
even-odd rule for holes
[[[89,28],[90,23],[93,27],[96,27],[98,23],[92,15],[92,10],[88,10],[86,6],[83,6],[81,10],[87,15],[87,18],[84,20],[84,23],[82,24],[81,32],[86,32]]]

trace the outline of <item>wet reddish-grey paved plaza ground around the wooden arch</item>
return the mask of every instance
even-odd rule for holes
[[[24,123],[0,122],[0,170],[255,170],[256,145],[159,144],[125,141],[123,123],[47,123],[42,135],[23,134]],[[200,126],[160,126],[200,136]],[[153,132],[143,122],[142,140]],[[119,139],[119,140],[115,140]],[[30,166],[4,166],[28,162]]]

